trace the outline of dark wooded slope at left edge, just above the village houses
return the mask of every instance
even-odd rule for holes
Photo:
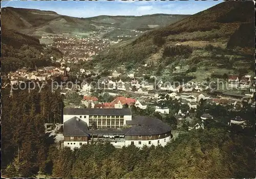
[[[2,28],[1,34],[1,72],[15,71],[18,68],[34,68],[53,65],[50,57],[61,58],[61,52],[39,43],[39,40]]]

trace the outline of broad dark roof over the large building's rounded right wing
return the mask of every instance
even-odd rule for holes
[[[133,125],[127,130],[125,135],[136,136],[136,135],[158,135],[170,132],[170,126],[163,121],[146,117],[146,116],[133,116],[131,121],[126,121],[127,124]]]

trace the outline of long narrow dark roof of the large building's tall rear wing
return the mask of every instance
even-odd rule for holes
[[[129,108],[97,109],[97,108],[64,108],[65,115],[132,115]]]

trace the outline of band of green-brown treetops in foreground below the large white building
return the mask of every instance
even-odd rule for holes
[[[51,177],[61,178],[242,178],[254,177],[254,142],[247,131],[211,126],[193,130],[162,146],[110,143],[51,148]],[[252,134],[253,132],[249,132]]]

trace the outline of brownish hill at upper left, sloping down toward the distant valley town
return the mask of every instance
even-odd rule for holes
[[[31,36],[96,29],[88,21],[59,15],[52,11],[7,7],[3,8],[1,13],[3,27]]]

